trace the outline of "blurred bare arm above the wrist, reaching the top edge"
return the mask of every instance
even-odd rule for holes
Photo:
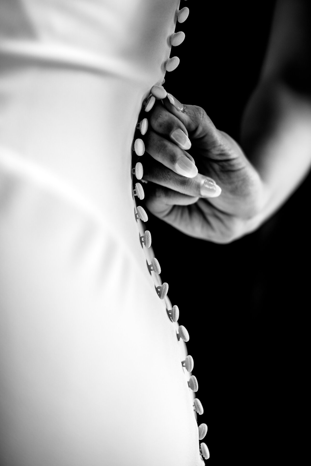
[[[261,224],[311,165],[310,2],[276,4],[261,80],[243,115],[241,145],[263,181]]]

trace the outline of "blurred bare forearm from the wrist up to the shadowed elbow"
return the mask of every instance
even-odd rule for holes
[[[256,226],[270,217],[311,166],[311,99],[282,80],[259,84],[244,112],[241,145],[263,181]]]

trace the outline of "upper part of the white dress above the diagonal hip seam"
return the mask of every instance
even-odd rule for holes
[[[1,144],[77,187],[119,230],[130,212],[124,202],[131,202],[138,113],[153,84],[164,78],[178,4],[25,0],[0,5],[0,89],[6,96]]]

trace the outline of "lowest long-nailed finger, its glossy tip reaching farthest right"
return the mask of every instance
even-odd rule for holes
[[[144,180],[195,199],[216,198],[221,193],[221,188],[216,185],[212,178],[200,173],[194,178],[183,177],[151,157],[145,158]]]

